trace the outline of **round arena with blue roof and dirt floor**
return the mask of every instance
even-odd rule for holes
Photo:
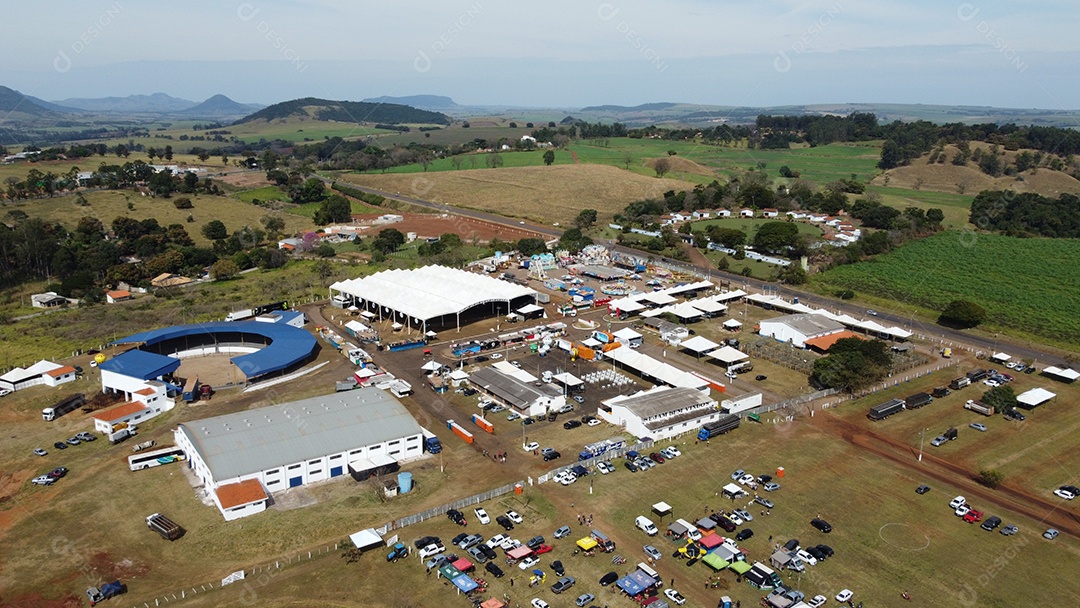
[[[179,375],[198,375],[214,386],[246,383],[284,371],[310,361],[319,352],[318,341],[308,330],[259,321],[174,325],[134,334],[113,343],[139,346],[105,362],[103,368],[125,376],[157,377],[190,362],[199,370],[195,374],[180,370]],[[232,365],[221,365],[219,361],[197,364],[208,357],[228,357]],[[176,366],[166,365],[168,359]]]

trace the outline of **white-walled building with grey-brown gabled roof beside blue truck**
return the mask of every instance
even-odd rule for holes
[[[635,437],[663,440],[719,419],[716,400],[694,389],[656,387],[603,402],[597,416]]]

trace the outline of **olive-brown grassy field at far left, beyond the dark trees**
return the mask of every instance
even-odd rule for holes
[[[137,192],[99,190],[86,192],[83,195],[90,202],[86,206],[77,205],[75,203],[76,197],[70,194],[6,203],[4,208],[22,210],[30,217],[59,222],[69,229],[75,229],[82,217],[96,217],[106,227],[110,226],[112,220],[118,217],[153,218],[161,226],[183,225],[191,239],[203,246],[207,245],[210,241],[202,235],[202,226],[212,219],[221,220],[231,233],[244,226],[260,227],[259,218],[274,213],[228,197],[190,195],[188,198],[191,199],[194,208],[178,210],[173,205],[173,201],[185,194],[176,194],[172,199],[160,199],[144,197]],[[127,207],[129,203],[132,204],[132,208]],[[193,218],[193,221],[188,221],[189,216]],[[286,233],[313,228],[310,219],[293,214],[281,214],[281,217],[285,220],[284,232]]]

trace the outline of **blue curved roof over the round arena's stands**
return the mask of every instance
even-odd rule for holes
[[[308,359],[315,349],[315,337],[308,330],[284,323],[262,323],[259,321],[218,321],[214,323],[195,323],[192,325],[174,325],[172,327],[133,334],[113,343],[130,344],[141,342],[146,346],[152,346],[165,340],[200,334],[248,334],[268,339],[270,344],[266,348],[253,353],[241,354],[230,360],[248,378],[256,378],[285,369]]]

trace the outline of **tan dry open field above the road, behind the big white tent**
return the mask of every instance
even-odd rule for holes
[[[595,164],[429,172],[422,176],[347,174],[341,179],[508,217],[564,224],[583,208],[595,208],[599,221],[606,222],[633,201],[693,186]]]

